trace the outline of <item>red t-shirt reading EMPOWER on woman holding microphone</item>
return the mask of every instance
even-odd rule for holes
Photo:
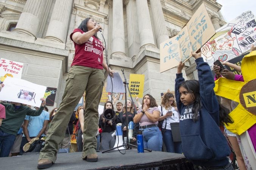
[[[81,29],[74,29],[74,31],[70,34],[70,39],[72,41],[72,35],[75,32],[81,32],[82,34],[84,33],[84,31],[82,31]],[[83,44],[77,44],[74,42],[74,45],[75,57],[71,66],[80,65],[101,70],[103,69],[103,44],[100,40],[92,36],[87,42]]]

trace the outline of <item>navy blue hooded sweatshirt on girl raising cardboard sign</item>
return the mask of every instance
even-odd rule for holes
[[[219,128],[219,103],[214,93],[214,79],[203,58],[197,63],[202,107],[198,121],[192,119],[193,103],[184,106],[180,100],[179,85],[184,82],[182,73],[176,74],[175,96],[180,112],[180,133],[184,156],[195,165],[221,167],[229,163],[230,149]]]

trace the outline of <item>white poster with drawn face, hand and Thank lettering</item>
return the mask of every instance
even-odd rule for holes
[[[215,60],[231,60],[248,51],[251,44],[256,44],[256,22],[254,14],[246,11],[217,29],[201,48],[201,53],[204,61],[213,68]]]

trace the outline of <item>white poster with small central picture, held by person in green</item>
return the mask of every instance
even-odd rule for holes
[[[40,107],[46,90],[45,86],[37,85],[26,80],[6,77],[5,87],[0,92],[0,100],[18,102]]]

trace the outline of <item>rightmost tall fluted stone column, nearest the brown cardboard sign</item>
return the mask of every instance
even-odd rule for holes
[[[164,14],[160,0],[150,0],[153,25],[155,28],[156,45],[160,48],[160,43],[169,39],[165,26]]]

